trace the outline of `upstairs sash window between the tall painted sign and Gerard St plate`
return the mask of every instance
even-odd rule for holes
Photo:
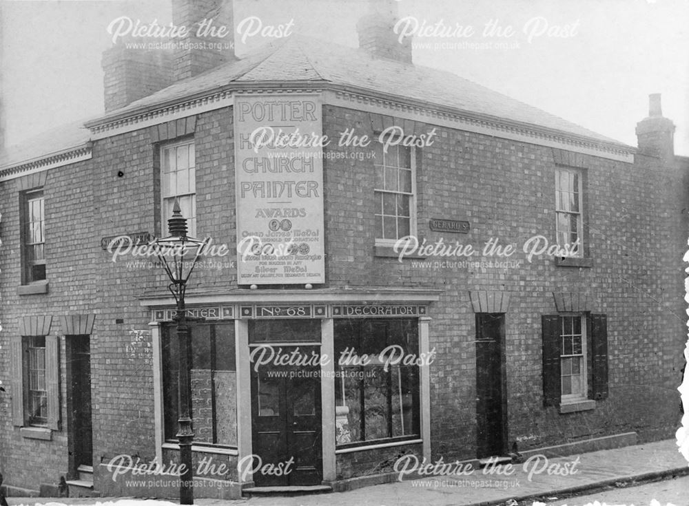
[[[413,148],[376,143],[376,242],[394,244],[416,233],[416,166]]]

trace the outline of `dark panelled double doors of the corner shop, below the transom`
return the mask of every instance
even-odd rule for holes
[[[281,348],[285,353],[294,349]],[[261,365],[258,372],[251,367],[252,445],[264,470],[254,472],[256,486],[321,484],[318,372],[320,368],[313,366]],[[289,472],[280,472],[280,465]]]

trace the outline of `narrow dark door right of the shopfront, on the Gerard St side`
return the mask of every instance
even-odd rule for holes
[[[477,458],[506,450],[504,335],[503,314],[476,314]]]

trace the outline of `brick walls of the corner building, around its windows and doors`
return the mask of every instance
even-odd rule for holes
[[[345,128],[373,135],[370,114],[324,106],[325,134]],[[389,121],[393,121],[389,118]],[[375,123],[375,122],[374,122]],[[405,127],[406,128],[406,127]],[[415,125],[417,131],[431,125]],[[553,238],[553,149],[438,128],[422,151],[418,171],[418,235],[481,247],[491,237],[521,246],[535,234]],[[198,233],[234,249],[234,146],[231,109],[199,114],[194,134]],[[339,148],[331,145],[333,151]],[[591,268],[555,266],[540,258],[515,268],[424,268],[373,253],[373,160],[324,160],[327,280],[330,287],[442,289],[430,308],[431,439],[433,458],[475,456],[475,322],[469,291],[512,293],[506,315],[508,441],[520,449],[635,430],[640,441],[670,437],[679,421],[683,364],[683,285],[686,250],[683,171],[654,158],[635,164],[582,156],[588,167]],[[155,456],[150,315],[143,293],[163,293],[159,268],[112,262],[103,237],[160,230],[154,144],[145,129],[97,140],[93,159],[51,169],[45,185],[48,237],[47,295],[18,296],[17,181],[0,184],[0,346],[18,332],[20,315],[96,315],[91,339],[94,463],[121,453]],[[119,176],[119,172],[123,176]],[[469,220],[471,232],[430,231],[429,218]],[[128,259],[127,259],[128,260]],[[145,260],[145,259],[144,259]],[[225,257],[228,262],[236,260]],[[443,259],[444,260],[444,259]],[[460,259],[457,259],[460,260]],[[430,261],[426,261],[429,263]],[[198,268],[189,291],[236,288],[234,266]],[[556,313],[553,291],[588,293],[608,315],[610,396],[593,411],[559,414],[543,408],[541,323]],[[123,321],[123,323],[118,323]],[[143,331],[143,333],[141,333]],[[59,325],[51,331],[59,334]],[[136,346],[134,346],[134,336]],[[64,341],[61,371],[65,370]],[[0,380],[9,383],[9,357],[0,355]],[[64,374],[64,372],[63,372]],[[65,378],[61,379],[63,398]],[[1,392],[9,413],[10,392]],[[63,404],[64,405],[64,404]],[[63,421],[66,413],[62,413]],[[6,483],[56,483],[67,472],[65,429],[53,441],[24,439],[0,417],[0,472]],[[338,456],[340,476],[376,468],[389,455]],[[367,459],[373,459],[367,461]],[[97,487],[97,485],[96,485]]]

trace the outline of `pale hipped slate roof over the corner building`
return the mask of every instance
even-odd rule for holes
[[[333,83],[468,112],[506,119],[629,147],[537,107],[517,101],[451,72],[398,61],[374,59],[364,50],[293,35],[240,61],[175,83],[107,114],[94,124],[127,112],[182,100],[230,83],[300,81]]]

